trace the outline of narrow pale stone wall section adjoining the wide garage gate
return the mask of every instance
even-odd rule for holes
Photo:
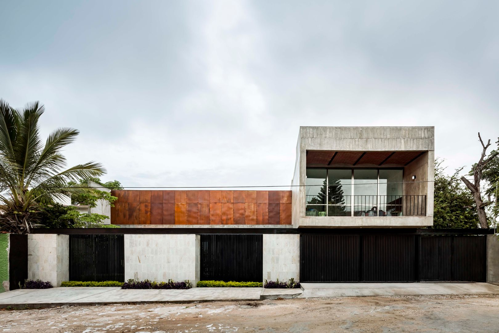
[[[263,234],[263,280],[300,277],[300,235]]]

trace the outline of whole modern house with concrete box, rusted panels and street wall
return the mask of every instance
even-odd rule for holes
[[[29,278],[497,280],[492,232],[425,229],[434,156],[434,127],[300,127],[289,189],[113,190],[120,228],[37,230]]]

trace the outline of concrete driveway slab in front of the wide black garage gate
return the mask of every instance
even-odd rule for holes
[[[489,283],[302,283],[298,298],[499,294]]]

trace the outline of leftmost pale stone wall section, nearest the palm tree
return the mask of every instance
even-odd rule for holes
[[[28,279],[50,281],[54,287],[69,280],[68,235],[28,235]]]

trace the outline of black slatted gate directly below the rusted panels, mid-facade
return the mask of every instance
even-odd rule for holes
[[[261,282],[263,235],[201,235],[201,280]]]

